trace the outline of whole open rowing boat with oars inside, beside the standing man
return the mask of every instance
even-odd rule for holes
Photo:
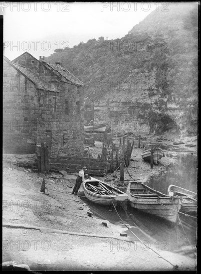
[[[117,205],[128,198],[123,191],[93,177],[84,180],[83,189],[85,196],[96,204]]]

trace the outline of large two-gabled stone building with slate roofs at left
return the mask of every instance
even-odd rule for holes
[[[61,64],[28,52],[3,58],[3,152],[35,153],[46,142],[51,156],[84,153],[84,85]]]

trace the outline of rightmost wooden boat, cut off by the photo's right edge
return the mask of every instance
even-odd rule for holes
[[[171,184],[168,188],[168,195],[180,197],[182,201],[181,212],[197,212],[197,193]]]

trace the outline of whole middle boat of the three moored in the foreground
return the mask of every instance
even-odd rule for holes
[[[176,222],[181,208],[179,197],[170,197],[141,182],[130,182],[126,193],[131,207]]]

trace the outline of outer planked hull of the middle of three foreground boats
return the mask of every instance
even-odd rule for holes
[[[157,192],[157,191],[155,191]],[[134,195],[130,191],[130,183],[127,188],[128,200],[130,201],[130,205],[133,208],[142,210],[148,214],[153,214],[158,217],[164,218],[171,222],[176,222],[177,213],[181,208],[181,201],[178,197],[160,197],[160,195],[152,194],[146,197],[146,195]]]

